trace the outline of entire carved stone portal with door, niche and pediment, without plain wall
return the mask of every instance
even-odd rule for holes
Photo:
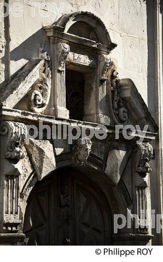
[[[40,49],[1,89],[0,243],[149,244],[151,225],[142,209],[151,209],[150,142],[157,125],[132,80],[118,78],[109,56],[116,44],[99,18],[67,14],[44,30],[50,50]],[[43,139],[27,139],[27,125],[41,129],[39,121],[46,125]],[[58,130],[99,123],[107,129],[103,140],[94,136],[83,144],[80,137],[70,145],[68,138],[47,137],[54,124]],[[136,143],[142,134],[127,140],[117,132],[115,125],[128,124],[148,125],[143,142]],[[88,218],[87,242],[79,233],[79,209]],[[129,229],[113,233],[114,214],[127,218],[128,210],[137,214],[138,228],[132,220]]]

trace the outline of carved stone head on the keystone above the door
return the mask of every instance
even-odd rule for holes
[[[73,152],[73,163],[78,166],[85,166],[86,161],[91,152],[92,142],[87,138],[79,138],[74,142]]]

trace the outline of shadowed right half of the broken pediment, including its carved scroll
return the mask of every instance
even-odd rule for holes
[[[131,79],[119,79],[116,65],[111,61],[107,70],[110,125],[139,125],[156,133],[158,127]]]

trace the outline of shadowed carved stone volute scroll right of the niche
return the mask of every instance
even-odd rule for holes
[[[113,113],[118,122],[123,123],[128,118],[127,109],[125,108],[122,98],[120,97],[118,72],[113,62],[111,62],[110,65],[110,72],[111,101]]]

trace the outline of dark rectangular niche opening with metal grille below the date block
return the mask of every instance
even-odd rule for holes
[[[82,120],[84,115],[84,76],[80,72],[66,70],[66,108],[69,118]]]

